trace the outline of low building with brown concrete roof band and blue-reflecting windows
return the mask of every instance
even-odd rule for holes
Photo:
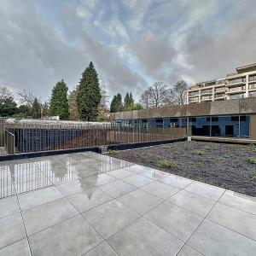
[[[111,113],[110,120],[130,127],[186,127],[192,137],[256,143],[256,97]]]

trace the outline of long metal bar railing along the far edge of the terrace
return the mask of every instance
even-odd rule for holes
[[[5,124],[8,154],[87,148],[119,143],[144,143],[186,137],[185,128],[125,127],[108,124]]]

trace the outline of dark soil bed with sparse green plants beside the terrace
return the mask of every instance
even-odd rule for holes
[[[123,150],[113,156],[256,196],[255,145],[183,142]]]

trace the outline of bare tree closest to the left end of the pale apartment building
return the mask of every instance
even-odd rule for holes
[[[174,84],[172,89],[172,103],[175,105],[184,105],[187,102],[187,90],[189,90],[189,85],[181,80]]]

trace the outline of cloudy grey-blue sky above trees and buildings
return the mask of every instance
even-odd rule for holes
[[[112,97],[256,62],[255,0],[0,0],[0,86],[42,101],[93,61]]]

